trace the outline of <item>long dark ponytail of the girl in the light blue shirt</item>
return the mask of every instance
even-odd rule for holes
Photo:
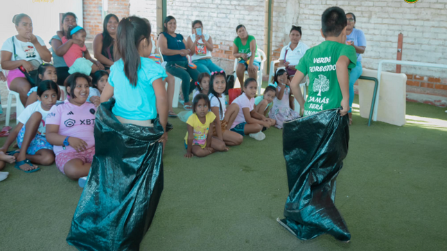
[[[133,86],[137,86],[138,70],[141,68],[138,46],[143,39],[147,39],[150,43],[151,31],[146,21],[135,16],[121,19],[116,30],[114,56],[115,59],[123,59],[124,74]]]

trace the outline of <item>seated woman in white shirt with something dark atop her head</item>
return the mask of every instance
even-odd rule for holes
[[[297,69],[295,68],[299,59],[304,56],[309,46],[301,41],[301,26],[292,26],[290,30],[290,43],[284,46],[279,56],[279,67],[285,67],[289,77],[295,75]]]

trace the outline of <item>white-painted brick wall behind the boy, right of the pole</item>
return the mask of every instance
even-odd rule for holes
[[[274,19],[283,24],[277,27],[279,32],[274,30],[272,50],[276,57],[281,47],[289,42],[281,32],[288,35],[292,21],[302,26],[302,41],[316,46],[324,41],[319,31],[322,12],[328,7],[340,6],[345,12],[356,15],[356,28],[365,32],[367,49],[363,67],[377,69],[380,59],[396,59],[399,32],[403,33],[403,60],[447,64],[447,0],[423,0],[414,4],[403,0],[299,0],[293,4],[298,8],[290,15],[289,2],[275,1],[274,12],[279,15]],[[394,72],[396,66],[387,64],[383,69]],[[402,66],[402,73],[408,75],[407,91],[447,96],[447,71]]]

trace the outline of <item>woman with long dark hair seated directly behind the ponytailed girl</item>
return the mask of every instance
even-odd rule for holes
[[[96,35],[93,40],[93,51],[95,58],[108,70],[114,63],[114,43],[116,39],[116,28],[119,19],[114,14],[105,16],[103,33]]]

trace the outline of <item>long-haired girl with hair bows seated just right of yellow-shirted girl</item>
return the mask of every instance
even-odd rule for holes
[[[217,127],[213,127],[213,136],[223,140],[225,145],[240,145],[244,137],[228,128],[228,124],[232,124],[236,119],[239,106],[233,102],[227,109],[224,94],[226,89],[227,75],[225,75],[225,71],[211,73],[208,97],[211,102],[211,111],[218,118],[216,120]]]

